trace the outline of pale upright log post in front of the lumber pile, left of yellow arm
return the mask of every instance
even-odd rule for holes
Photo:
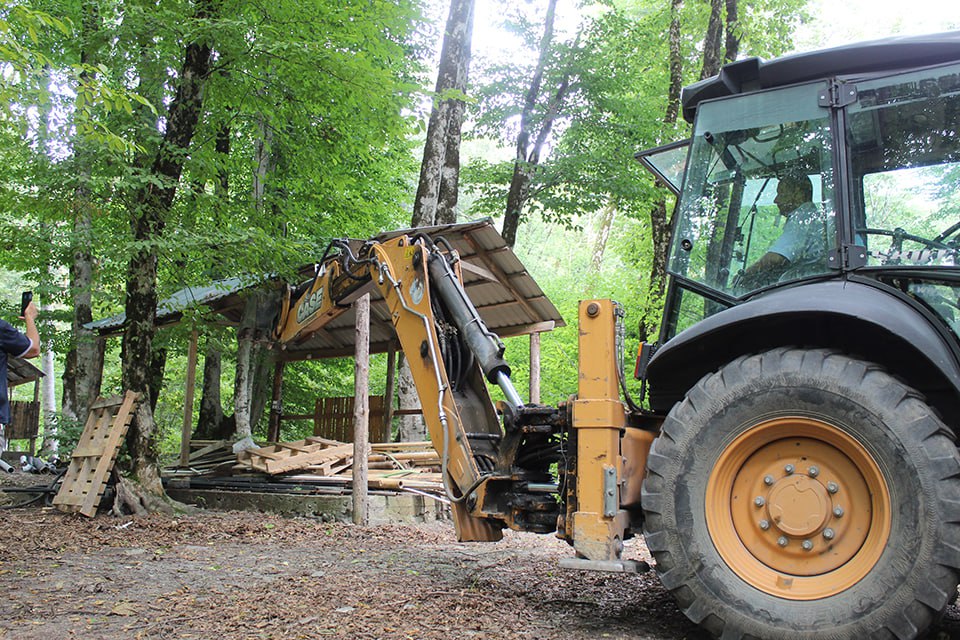
[[[367,448],[370,436],[370,294],[355,303],[353,367],[353,523],[367,524]]]

